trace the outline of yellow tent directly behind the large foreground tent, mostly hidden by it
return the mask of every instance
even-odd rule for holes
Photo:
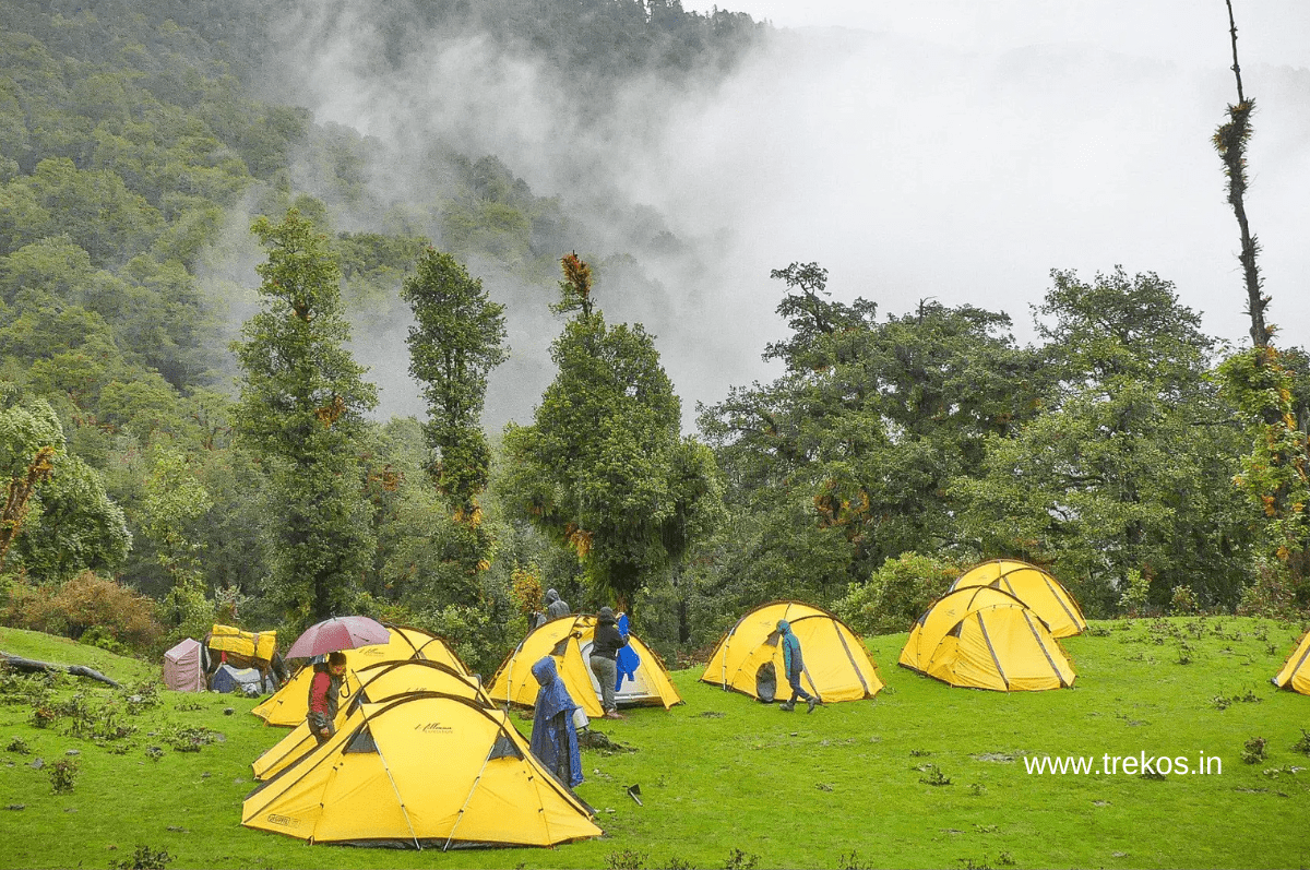
[[[413,692],[443,692],[491,708],[491,698],[482,690],[476,676],[461,673],[443,662],[427,659],[405,659],[403,662],[377,662],[355,672],[359,690],[350,701],[337,710],[337,730],[350,727],[351,717],[358,717],[362,704],[379,704]],[[272,778],[300,756],[318,746],[318,739],[309,732],[309,723],[301,721],[287,736],[261,755],[250,765],[254,778]]]

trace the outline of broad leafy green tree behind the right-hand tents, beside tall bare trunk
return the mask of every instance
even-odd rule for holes
[[[1238,432],[1205,376],[1199,317],[1153,274],[1052,278],[1039,313],[1058,381],[1044,413],[960,481],[965,533],[984,552],[1058,563],[1094,612],[1112,612],[1129,570],[1151,580],[1155,605],[1182,584],[1203,607],[1234,607],[1250,519],[1229,485]]]

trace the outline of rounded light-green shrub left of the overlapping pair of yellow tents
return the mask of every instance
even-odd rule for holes
[[[951,562],[903,553],[883,562],[863,586],[852,584],[833,611],[861,634],[905,632],[959,574]]]

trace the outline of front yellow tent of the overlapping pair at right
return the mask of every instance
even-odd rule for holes
[[[1066,688],[1077,676],[1041,617],[990,586],[934,601],[910,629],[900,664],[951,685],[998,692]]]

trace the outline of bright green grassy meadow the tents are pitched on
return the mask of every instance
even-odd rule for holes
[[[959,867],[1013,858],[1031,866],[1305,866],[1310,842],[1310,759],[1292,749],[1310,727],[1310,697],[1276,692],[1269,677],[1296,629],[1231,617],[1102,624],[1108,634],[1065,641],[1077,688],[1000,694],[952,689],[895,667],[904,635],[870,641],[889,689],[872,702],[785,714],[675,673],[686,698],[672,711],[637,710],[605,723],[630,755],[587,752],[579,794],[599,810],[607,836],[554,850],[438,854],[305,846],[246,831],[240,807],[249,763],[283,732],[249,715],[254,701],[165,694],[134,722],[126,755],[38,731],[24,705],[0,706],[0,867],[109,866],[138,845],[166,848],[174,867],[604,867],[677,858],[723,866],[732,849],[758,866]],[[1200,637],[1196,637],[1200,634]],[[1192,663],[1179,664],[1180,639]],[[1157,643],[1159,638],[1162,643]],[[1272,647],[1272,651],[1271,651]],[[98,650],[0,629],[0,649],[92,664],[136,679],[138,666]],[[134,668],[138,668],[134,672]],[[79,681],[106,697],[107,689]],[[1216,696],[1242,696],[1220,709]],[[234,715],[225,717],[225,708]],[[164,719],[208,725],[224,742],[199,753],[145,755],[147,731]],[[527,730],[528,723],[520,721]],[[5,749],[14,736],[31,756]],[[1269,757],[1243,764],[1252,736]],[[51,794],[47,761],[81,751],[69,795]],[[1138,755],[1222,759],[1222,776],[1150,781],[1136,776],[1030,776],[1022,757]],[[9,766],[13,764],[13,766]],[[916,768],[935,764],[951,785],[931,786]],[[645,807],[624,790],[641,784]],[[629,853],[624,856],[622,853]]]

